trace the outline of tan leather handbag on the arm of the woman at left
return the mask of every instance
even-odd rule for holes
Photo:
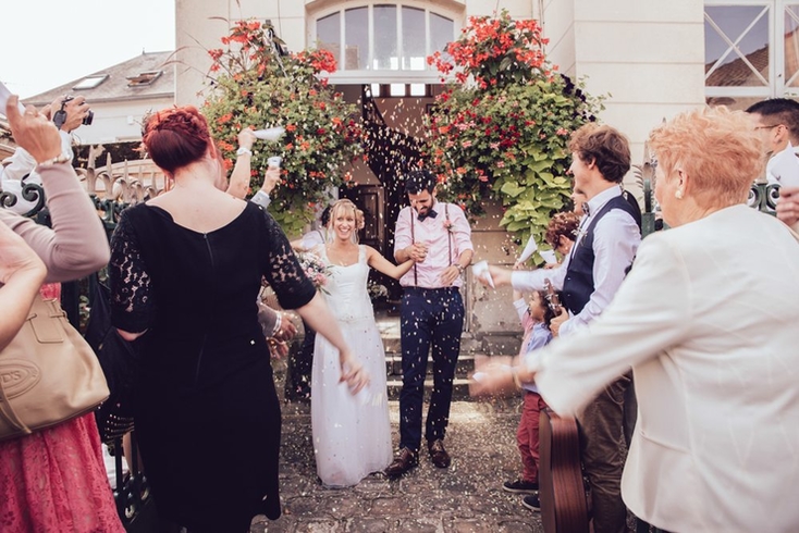
[[[90,412],[108,398],[102,369],[58,300],[37,295],[0,351],[0,441]]]

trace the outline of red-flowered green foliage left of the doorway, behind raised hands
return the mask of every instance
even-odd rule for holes
[[[297,235],[325,193],[351,179],[343,169],[360,153],[360,129],[356,107],[319,77],[335,71],[333,55],[304,50],[279,57],[282,42],[270,39],[271,29],[258,21],[237,21],[221,39],[226,48],[209,50],[213,83],[204,112],[229,169],[243,127],[285,128],[276,142],[253,147],[251,190],[261,185],[268,158],[281,156],[282,182],[269,211],[286,234]]]

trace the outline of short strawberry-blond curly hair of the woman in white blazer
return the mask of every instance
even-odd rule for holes
[[[676,170],[690,176],[703,207],[745,202],[765,163],[751,117],[724,106],[678,114],[649,134],[649,146],[666,178]]]

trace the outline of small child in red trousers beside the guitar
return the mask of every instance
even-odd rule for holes
[[[519,350],[520,358],[532,357],[533,351],[545,346],[552,339],[549,324],[554,313],[546,302],[546,293],[537,290],[530,295],[529,306],[521,294],[514,290],[514,307],[519,313],[519,320],[525,329],[525,337]],[[516,481],[506,481],[502,488],[509,493],[528,494],[523,505],[533,511],[540,511],[538,500],[538,470],[539,470],[539,414],[546,404],[538,394],[534,383],[523,383],[524,405],[521,420],[516,432],[516,442],[524,466],[521,476]]]

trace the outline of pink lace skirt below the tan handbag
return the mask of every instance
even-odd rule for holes
[[[94,413],[0,443],[0,531],[124,533]]]

